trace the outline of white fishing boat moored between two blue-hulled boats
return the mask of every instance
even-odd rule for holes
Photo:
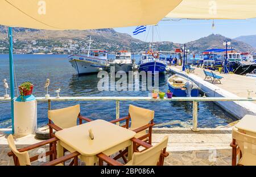
[[[137,68],[135,64],[135,60],[131,59],[131,52],[127,50],[120,50],[115,53],[114,61],[109,63],[110,67],[115,68],[115,72],[117,71],[125,71],[128,73],[129,71]]]

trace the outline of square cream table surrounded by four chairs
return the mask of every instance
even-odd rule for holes
[[[92,129],[94,139],[89,137],[88,130]],[[63,147],[68,151],[78,151],[79,158],[86,165],[97,163],[97,154],[112,155],[128,147],[128,160],[131,160],[133,148],[131,138],[135,132],[109,123],[105,120],[94,120],[76,127],[60,130],[55,133],[59,138],[57,157],[63,156]]]

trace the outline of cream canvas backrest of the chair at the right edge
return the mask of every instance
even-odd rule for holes
[[[237,128],[233,128],[232,138],[236,140],[242,152],[240,163],[242,165],[256,165],[256,137],[238,132]]]

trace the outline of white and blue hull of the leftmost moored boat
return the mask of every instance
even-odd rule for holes
[[[76,55],[69,56],[69,62],[79,75],[97,73],[107,66],[106,60]]]

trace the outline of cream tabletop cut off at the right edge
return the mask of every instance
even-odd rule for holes
[[[245,115],[235,127],[241,133],[256,137],[256,116]]]

